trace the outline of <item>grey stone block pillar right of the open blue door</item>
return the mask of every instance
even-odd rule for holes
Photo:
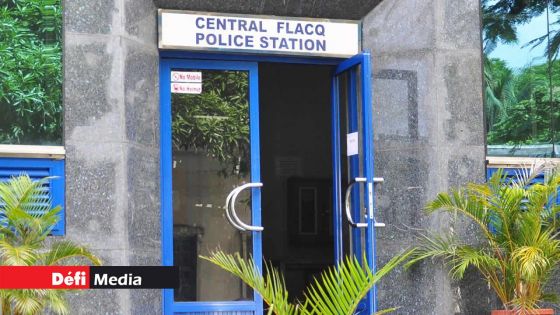
[[[363,23],[372,52],[377,191],[383,264],[415,235],[476,231],[424,204],[440,191],[485,178],[479,0],[383,1]],[[388,123],[390,122],[390,123]],[[441,262],[400,270],[379,287],[398,314],[489,314],[494,298],[476,273],[454,282]]]

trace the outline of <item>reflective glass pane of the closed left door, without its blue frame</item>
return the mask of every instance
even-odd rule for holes
[[[176,71],[174,80],[195,82],[171,86],[175,300],[252,300],[239,279],[199,257],[216,249],[252,253],[251,234],[232,227],[224,209],[229,192],[250,179],[248,73]],[[249,192],[239,195],[236,210],[251,222]]]

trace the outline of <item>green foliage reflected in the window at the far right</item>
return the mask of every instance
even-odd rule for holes
[[[551,121],[560,118],[556,110],[560,93],[560,63],[541,64],[514,72],[502,60],[484,62],[485,111],[489,144],[550,143],[558,137],[550,130]],[[554,134],[553,134],[554,132]]]

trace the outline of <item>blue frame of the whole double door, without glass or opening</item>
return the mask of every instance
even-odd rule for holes
[[[294,64],[331,65],[335,69],[332,76],[332,148],[333,148],[333,220],[335,237],[336,262],[342,259],[342,204],[341,204],[341,163],[340,163],[340,104],[338,99],[338,76],[346,71],[356,73],[360,68],[361,84],[358,87],[354,79],[348,82],[349,104],[351,113],[357,114],[357,93],[362,92],[363,128],[362,147],[364,152],[363,170],[367,178],[367,185],[373,185],[373,125],[371,113],[371,63],[370,54],[362,53],[349,59],[338,58],[304,58],[289,56],[259,56],[259,55],[230,55],[217,53],[191,53],[177,51],[160,51],[160,119],[161,119],[161,200],[162,200],[162,259],[163,265],[173,265],[173,218],[172,218],[172,147],[171,147],[171,91],[170,77],[172,68],[186,69],[216,69],[216,70],[247,70],[250,75],[249,98],[250,98],[250,141],[251,141],[251,181],[260,182],[260,148],[259,148],[259,108],[258,108],[258,62],[278,62]],[[354,77],[351,75],[350,77]],[[359,90],[358,90],[359,89]],[[353,120],[352,120],[353,121]],[[356,124],[350,126],[357,128]],[[357,129],[356,129],[357,130]],[[352,161],[352,163],[358,163]],[[266,183],[265,183],[266,184]],[[372,186],[373,187],[373,186]],[[366,229],[365,256],[369,266],[375,270],[375,227],[373,217],[373,196],[365,195],[365,204],[369,205],[369,215],[366,221],[369,223]],[[253,223],[261,224],[260,218],[260,191],[252,190],[253,196]],[[359,198],[359,194],[353,194],[352,198]],[[354,202],[355,203],[355,202]],[[255,206],[258,209],[255,210]],[[355,216],[357,217],[357,215]],[[266,231],[266,227],[265,227]],[[253,233],[254,257],[262,257],[261,232]],[[359,240],[360,238],[354,238]],[[360,253],[362,245],[359,242],[351,244],[354,253]],[[262,261],[255,259],[258,267]],[[377,310],[376,288],[369,292],[365,299],[367,310]],[[262,314],[262,298],[255,294],[252,302],[174,302],[173,290],[163,290],[164,314],[189,314],[196,312],[197,315],[206,312],[231,312],[230,314]],[[235,313],[233,313],[235,312]],[[372,312],[370,312],[371,314]]]

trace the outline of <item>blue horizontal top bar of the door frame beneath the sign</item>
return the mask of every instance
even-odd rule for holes
[[[340,58],[317,58],[317,57],[290,57],[290,56],[264,56],[264,55],[236,55],[221,54],[211,52],[187,52],[187,51],[166,51],[160,50],[159,55],[163,59],[207,59],[219,61],[250,61],[250,62],[277,62],[277,63],[297,63],[309,65],[338,65]]]

